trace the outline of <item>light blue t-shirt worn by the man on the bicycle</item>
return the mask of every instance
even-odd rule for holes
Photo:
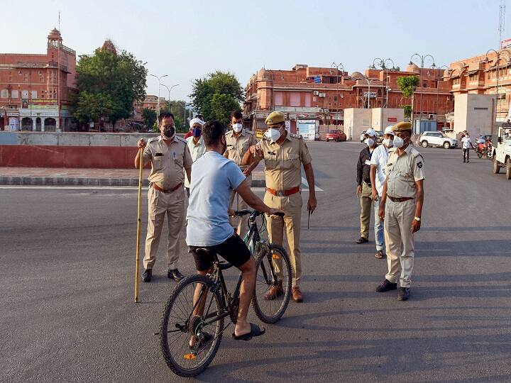
[[[205,152],[192,165],[187,211],[189,246],[214,246],[229,239],[229,196],[245,180],[238,165],[218,152]]]

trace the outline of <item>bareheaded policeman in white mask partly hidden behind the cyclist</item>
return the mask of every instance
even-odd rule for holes
[[[224,157],[229,158],[236,162],[241,171],[247,177],[248,186],[252,185],[252,165],[241,165],[243,155],[247,152],[248,148],[257,143],[255,135],[251,131],[243,128],[243,114],[241,111],[233,111],[231,113],[231,127],[232,131],[226,133],[227,149]],[[241,198],[241,196],[233,191],[229,199],[229,209],[242,210],[247,209],[248,205]],[[236,224],[236,220],[238,220]],[[248,215],[241,218],[231,218],[231,226],[236,228],[236,233],[243,238],[248,230]]]

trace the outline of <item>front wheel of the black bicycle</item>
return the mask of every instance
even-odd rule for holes
[[[284,315],[291,297],[291,263],[279,245],[261,246],[255,259],[255,289],[252,306],[264,323],[276,323]],[[273,289],[275,294],[269,294]]]

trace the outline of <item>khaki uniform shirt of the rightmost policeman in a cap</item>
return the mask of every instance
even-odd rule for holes
[[[408,145],[402,155],[390,148],[387,160],[387,195],[394,198],[415,198],[415,182],[424,179],[424,158]]]

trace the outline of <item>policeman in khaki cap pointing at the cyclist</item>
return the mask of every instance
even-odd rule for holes
[[[303,301],[300,290],[302,262],[300,253],[300,226],[302,219],[302,184],[301,164],[309,184],[309,201],[307,210],[314,211],[317,206],[314,191],[314,170],[312,158],[304,140],[299,135],[288,133],[285,129],[285,117],[281,112],[272,112],[265,120],[268,131],[263,140],[249,148],[243,156],[243,165],[265,160],[266,194],[264,203],[270,207],[281,209],[285,216],[269,216],[266,219],[270,241],[282,245],[284,230],[287,237],[287,248],[290,252],[292,268],[292,298],[296,302]],[[282,281],[278,286],[268,289],[265,299],[275,299],[283,294]]]

